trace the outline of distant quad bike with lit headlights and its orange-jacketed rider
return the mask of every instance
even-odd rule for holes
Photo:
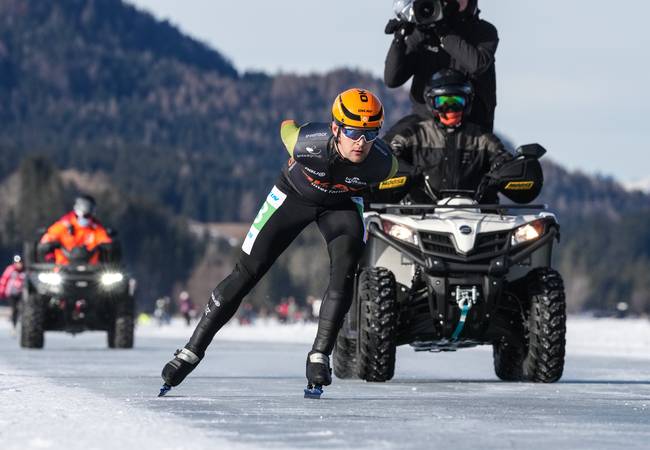
[[[118,242],[80,195],[36,245],[25,245],[27,282],[21,346],[41,348],[44,331],[106,330],[109,347],[133,347],[133,292]]]

